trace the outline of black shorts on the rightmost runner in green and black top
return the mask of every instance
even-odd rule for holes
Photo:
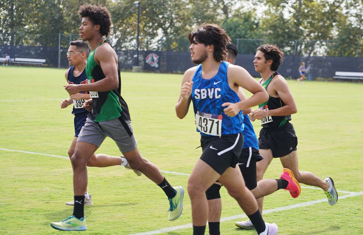
[[[281,158],[297,150],[297,137],[294,126],[287,122],[284,126],[274,129],[262,127],[258,138],[260,149],[271,149],[274,158]]]

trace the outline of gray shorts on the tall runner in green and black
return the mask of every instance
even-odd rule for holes
[[[136,149],[137,141],[132,133],[131,121],[121,118],[95,122],[87,117],[77,142],[91,143],[99,147],[106,137],[115,141],[121,153],[128,153]]]

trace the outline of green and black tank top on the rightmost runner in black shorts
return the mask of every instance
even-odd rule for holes
[[[267,89],[268,85],[270,84],[272,78],[275,76],[280,75],[278,72],[274,72],[272,76],[266,80],[262,86]],[[269,96],[269,100],[263,104],[258,105],[258,108],[263,110],[272,110],[277,109],[285,106],[284,101],[281,100],[280,97],[271,97]],[[261,126],[265,128],[278,128],[284,126],[288,121],[291,121],[291,115],[286,116],[268,116],[261,119]]]

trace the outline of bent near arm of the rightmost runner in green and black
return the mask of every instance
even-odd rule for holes
[[[289,86],[285,81],[285,78],[281,78],[280,76],[277,77],[273,84],[274,90],[276,90],[278,96],[284,101],[285,106],[277,109],[265,110],[262,111],[261,109],[257,109],[254,112],[254,117],[258,120],[262,119],[263,117],[267,116],[286,116],[290,114],[297,113],[297,106],[294,100],[293,95],[290,92]]]

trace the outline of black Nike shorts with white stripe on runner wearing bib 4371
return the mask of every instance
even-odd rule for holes
[[[203,153],[200,159],[223,175],[228,167],[235,168],[243,146],[243,134],[201,137]]]

